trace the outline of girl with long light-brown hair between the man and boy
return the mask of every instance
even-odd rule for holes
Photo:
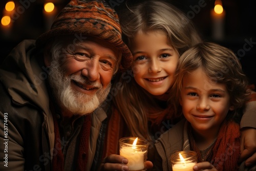
[[[133,68],[119,76],[114,102],[128,135],[155,140],[176,123],[167,99],[179,56],[201,38],[179,9],[161,1],[135,5],[119,18]]]

